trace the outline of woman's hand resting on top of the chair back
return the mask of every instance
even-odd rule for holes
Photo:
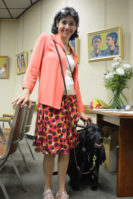
[[[28,88],[25,88],[23,90],[22,95],[20,95],[17,99],[15,99],[12,102],[13,105],[15,104],[21,104],[21,107],[23,107],[25,104],[28,104],[28,108],[31,107],[31,101],[30,101],[30,90]]]

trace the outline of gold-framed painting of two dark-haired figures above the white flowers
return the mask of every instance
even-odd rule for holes
[[[112,27],[88,33],[88,61],[113,59],[123,57],[122,28]]]

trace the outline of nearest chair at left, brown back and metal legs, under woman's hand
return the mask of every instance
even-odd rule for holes
[[[5,142],[0,142],[0,169],[4,167],[7,160],[10,160],[12,163],[13,169],[24,190],[26,189],[24,188],[20,173],[15,165],[15,162],[12,159],[12,155],[16,152],[18,148],[20,134],[21,134],[22,127],[24,124],[26,112],[27,112],[27,105],[25,105],[23,108],[21,108],[20,105],[16,106],[10,131],[5,134]],[[1,137],[0,137],[0,141],[2,141]],[[1,179],[0,179],[0,186],[2,188],[5,198],[9,199],[8,193]]]

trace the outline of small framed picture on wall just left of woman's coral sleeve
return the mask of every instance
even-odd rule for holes
[[[17,55],[17,74],[23,74],[28,67],[28,52],[24,51]]]

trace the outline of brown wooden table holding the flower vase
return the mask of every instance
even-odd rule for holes
[[[117,173],[117,196],[133,196],[133,111],[89,109],[87,114],[96,114],[97,124],[119,126],[119,150]]]

